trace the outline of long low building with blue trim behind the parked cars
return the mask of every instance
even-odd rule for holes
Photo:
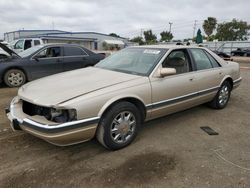
[[[61,30],[18,30],[4,33],[4,40],[40,38],[44,43],[76,43],[91,50],[119,50],[134,45],[127,38],[113,37],[96,32],[67,32]]]

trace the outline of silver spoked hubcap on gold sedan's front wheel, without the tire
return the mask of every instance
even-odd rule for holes
[[[136,126],[135,116],[129,112],[119,113],[111,124],[111,138],[114,142],[122,144],[127,142],[134,134]]]

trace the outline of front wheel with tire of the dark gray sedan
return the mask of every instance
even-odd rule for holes
[[[20,87],[26,82],[26,76],[19,69],[10,69],[4,74],[4,83],[9,87]]]

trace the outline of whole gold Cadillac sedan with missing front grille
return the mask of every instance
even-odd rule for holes
[[[13,130],[55,145],[96,137],[116,150],[135,139],[144,121],[202,103],[224,108],[240,81],[237,63],[206,48],[129,47],[95,67],[27,83],[6,114]]]

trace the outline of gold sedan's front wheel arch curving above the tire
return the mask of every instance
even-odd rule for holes
[[[109,109],[119,103],[119,102],[122,102],[122,101],[126,101],[126,102],[130,102],[132,104],[134,104],[138,110],[139,110],[139,113],[141,114],[141,117],[142,117],[142,121],[145,120],[146,118],[146,114],[147,114],[147,111],[146,111],[146,106],[143,102],[142,99],[140,99],[139,97],[137,96],[124,96],[124,97],[119,97],[119,98],[115,98],[115,99],[111,99],[109,100],[102,108],[101,110],[99,111],[98,113],[98,116],[99,117],[103,117],[105,115],[105,113],[107,113],[109,111]]]

